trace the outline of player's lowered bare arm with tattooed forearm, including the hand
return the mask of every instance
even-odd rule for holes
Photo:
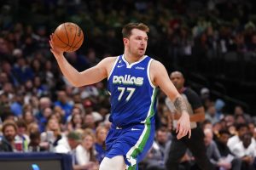
[[[191,136],[191,128],[189,121],[189,112],[182,96],[177,92],[177,88],[173,85],[168,77],[166,68],[159,61],[154,60],[150,66],[150,77],[156,86],[172,100],[177,111],[181,113],[181,117],[177,121],[177,139],[183,138],[189,133]]]

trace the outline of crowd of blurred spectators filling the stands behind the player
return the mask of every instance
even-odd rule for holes
[[[147,54],[162,61],[168,71],[216,73],[214,59],[225,56],[232,61],[229,54],[235,54],[253,62],[256,56],[253,1],[16,0],[0,7],[0,151],[70,153],[74,169],[96,169],[104,157],[109,95],[106,82],[74,88],[61,75],[49,51],[49,34],[56,26],[72,21],[84,30],[84,45],[66,54],[78,71],[122,54],[121,27],[130,21],[150,27]],[[255,82],[252,72],[245,75]],[[225,101],[212,99],[211,89],[202,88],[200,95],[206,110],[205,143],[218,146],[214,147],[218,156],[208,154],[212,163],[221,167],[229,155],[227,159],[241,159],[243,169],[253,169],[253,113],[240,105],[224,111]],[[145,169],[152,164],[163,168],[166,147],[172,142],[165,98],[159,94],[157,133],[141,165]],[[230,144],[233,138],[237,144]],[[224,153],[225,146],[229,154]],[[192,169],[194,164],[188,150],[181,168]]]

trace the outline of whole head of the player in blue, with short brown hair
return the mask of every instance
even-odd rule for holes
[[[129,23],[123,27],[123,42],[126,52],[143,56],[148,46],[148,26],[143,23]]]

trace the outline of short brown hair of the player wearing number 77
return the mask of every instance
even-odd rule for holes
[[[126,37],[126,38],[130,37],[132,29],[135,29],[135,28],[141,31],[149,32],[148,26],[146,26],[143,23],[129,23],[123,27],[123,30],[122,30],[123,37]]]

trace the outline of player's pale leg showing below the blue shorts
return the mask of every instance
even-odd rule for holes
[[[113,158],[105,157],[101,162],[99,170],[125,170],[125,168],[124,156],[114,156]]]

